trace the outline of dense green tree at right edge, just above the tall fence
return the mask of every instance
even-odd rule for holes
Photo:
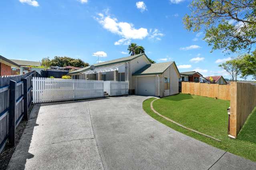
[[[256,79],[256,51],[252,54],[246,54],[240,57],[241,77],[245,78],[252,75],[253,79]]]

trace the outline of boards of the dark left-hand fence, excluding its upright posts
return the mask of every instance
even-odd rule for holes
[[[11,75],[11,76],[2,76],[0,77],[0,153],[2,152],[6,142],[9,137],[9,94],[10,94],[10,81],[15,81],[17,86],[15,90],[15,126],[17,127],[20,123],[20,120],[23,117],[24,113],[24,87],[23,87],[23,78],[28,79],[28,85],[32,85],[32,77],[36,77],[36,71],[30,71],[23,75]],[[32,101],[31,91],[28,94],[28,101]],[[13,98],[14,99],[14,98]]]

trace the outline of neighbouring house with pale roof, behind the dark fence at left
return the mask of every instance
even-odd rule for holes
[[[10,59],[14,63],[20,65],[20,74],[27,73],[28,71],[36,70],[40,73],[42,68],[33,68],[41,66],[40,61],[26,61],[26,60],[18,60],[18,59]]]

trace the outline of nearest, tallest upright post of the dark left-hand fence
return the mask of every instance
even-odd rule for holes
[[[9,93],[9,143],[15,146],[16,81],[10,80]]]

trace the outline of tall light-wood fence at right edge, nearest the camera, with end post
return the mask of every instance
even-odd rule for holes
[[[256,85],[232,82],[230,86],[230,135],[236,137],[256,107]]]

